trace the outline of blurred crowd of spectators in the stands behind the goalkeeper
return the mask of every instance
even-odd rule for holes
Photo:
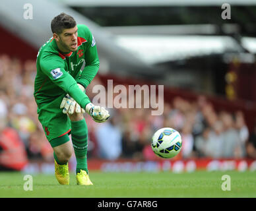
[[[0,55],[0,155],[5,141],[13,138],[24,147],[28,159],[51,161],[53,150],[36,112],[35,76],[36,61],[22,63]],[[98,76],[86,88],[91,99],[96,96],[92,92],[96,84],[103,84]],[[193,102],[174,98],[171,104],[164,103],[162,115],[151,115],[150,108],[109,110],[111,118],[102,124],[84,115],[89,133],[88,158],[154,160],[150,142],[153,133],[162,127],[180,132],[183,145],[179,158],[256,158],[256,124],[250,134],[241,111],[216,112],[205,96]]]

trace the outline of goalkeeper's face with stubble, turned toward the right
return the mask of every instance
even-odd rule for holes
[[[61,34],[55,36],[55,40],[63,53],[77,51],[77,30],[77,26],[66,28]]]

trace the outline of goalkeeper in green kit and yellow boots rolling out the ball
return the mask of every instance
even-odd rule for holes
[[[34,98],[38,119],[53,148],[55,177],[69,184],[68,161],[73,150],[77,160],[78,185],[92,185],[87,168],[88,131],[83,113],[101,123],[110,115],[94,106],[85,89],[98,72],[96,43],[87,26],[61,13],[51,21],[53,37],[42,45],[36,61]],[[69,140],[71,134],[71,140]]]

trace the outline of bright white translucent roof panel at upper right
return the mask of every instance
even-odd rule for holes
[[[230,36],[120,35],[115,42],[133,55],[138,55],[148,65],[243,51]],[[250,45],[251,40],[245,42]]]

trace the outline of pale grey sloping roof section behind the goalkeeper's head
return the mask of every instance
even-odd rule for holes
[[[0,24],[15,36],[26,40],[38,48],[51,38],[50,23],[54,16],[61,12],[75,18],[78,24],[86,24],[94,34],[101,61],[100,70],[108,73],[113,71],[126,75],[128,72],[147,76],[154,74],[139,58],[113,43],[113,35],[86,16],[80,15],[73,9],[57,2],[30,0],[33,7],[33,18],[23,18],[26,0],[2,0],[0,5]],[[47,12],[42,8],[50,8]]]

